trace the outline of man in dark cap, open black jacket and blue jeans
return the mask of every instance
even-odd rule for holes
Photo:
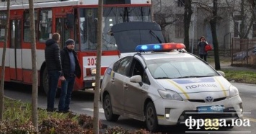
[[[61,76],[64,76],[65,80],[61,81],[61,97],[58,102],[59,112],[69,112],[75,78],[81,77],[77,53],[74,51],[75,42],[72,39],[68,39],[65,44],[66,47],[61,50],[61,65],[63,69]]]

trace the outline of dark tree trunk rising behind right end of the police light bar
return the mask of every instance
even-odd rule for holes
[[[186,50],[190,52],[190,37],[189,37],[189,31],[190,31],[190,21],[191,16],[193,14],[191,9],[191,0],[185,1],[185,8],[184,8],[184,44],[186,46]]]

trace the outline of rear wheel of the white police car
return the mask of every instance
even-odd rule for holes
[[[112,103],[110,99],[110,95],[107,94],[106,97],[104,98],[103,102],[103,109],[105,113],[106,120],[116,122],[118,121],[118,118],[120,115],[115,115],[112,112]]]

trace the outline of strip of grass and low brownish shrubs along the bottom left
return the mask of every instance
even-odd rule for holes
[[[0,122],[0,134],[34,134],[31,122],[31,104],[4,98],[4,120]],[[38,109],[39,133],[41,134],[93,134],[93,118],[88,115],[47,112]],[[150,134],[146,130],[128,130],[120,127],[102,129],[102,134]]]

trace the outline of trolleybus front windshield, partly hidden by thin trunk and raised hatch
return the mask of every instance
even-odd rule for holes
[[[117,50],[111,27],[123,22],[151,22],[150,7],[105,7],[102,18],[102,50]],[[97,9],[79,9],[81,50],[96,50]]]

